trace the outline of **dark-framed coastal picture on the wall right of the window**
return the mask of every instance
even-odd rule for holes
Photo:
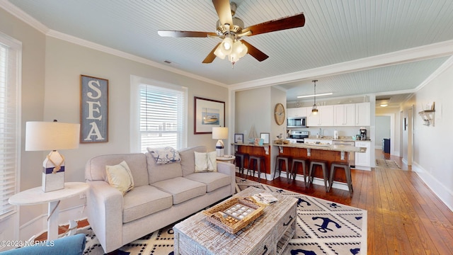
[[[194,134],[212,134],[225,126],[225,102],[194,96]]]

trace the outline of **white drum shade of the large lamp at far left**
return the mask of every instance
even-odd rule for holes
[[[28,121],[25,124],[25,151],[76,149],[80,124]]]

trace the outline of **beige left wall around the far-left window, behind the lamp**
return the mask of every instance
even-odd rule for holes
[[[20,188],[40,186],[42,152],[25,152],[25,122],[42,120],[45,91],[45,35],[0,8],[0,32],[22,42],[21,96],[21,172]],[[32,220],[47,209],[40,205],[20,208],[21,223]]]

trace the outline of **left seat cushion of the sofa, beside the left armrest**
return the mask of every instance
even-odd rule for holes
[[[171,208],[173,199],[171,194],[159,188],[145,185],[134,188],[123,198],[122,222],[127,223],[141,217]]]

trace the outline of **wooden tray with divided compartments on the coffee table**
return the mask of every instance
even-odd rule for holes
[[[265,205],[253,202],[252,198],[233,198],[214,205],[212,208],[203,211],[203,213],[207,216],[207,221],[230,234],[236,234],[236,232],[260,217],[264,208]]]

